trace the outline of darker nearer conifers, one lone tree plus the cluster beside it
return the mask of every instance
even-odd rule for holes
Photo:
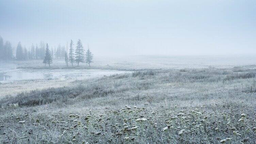
[[[89,64],[89,66],[91,66],[91,63],[93,62],[92,60],[93,60],[93,54],[89,49],[89,44],[88,44],[88,49],[84,53],[83,44],[80,39],[78,39],[77,41],[77,46],[75,50],[74,50],[73,40],[70,41],[69,52],[68,53],[67,51],[65,52],[65,62],[67,67],[68,67],[68,62],[71,63],[72,67],[74,66],[73,65],[74,63],[77,63],[77,66],[79,66],[79,63],[81,62]],[[45,58],[43,60],[43,63],[45,64],[45,66],[46,64],[49,65],[49,67],[50,67],[50,64],[52,64],[52,55],[49,50],[48,43],[46,44]]]

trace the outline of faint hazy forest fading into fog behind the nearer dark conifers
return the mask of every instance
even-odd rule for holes
[[[0,36],[0,60],[29,60],[29,59],[44,59],[46,52],[46,43],[43,41],[40,44],[32,44],[29,48],[22,47],[21,42],[17,48],[13,48],[9,41],[4,42]],[[64,59],[66,54],[65,46],[50,49],[51,57],[54,59]]]

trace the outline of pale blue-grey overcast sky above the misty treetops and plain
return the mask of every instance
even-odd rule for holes
[[[0,35],[27,48],[80,38],[95,55],[256,54],[256,1],[0,0]]]

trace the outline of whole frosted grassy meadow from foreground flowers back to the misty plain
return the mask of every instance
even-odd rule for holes
[[[255,73],[145,70],[7,96],[0,143],[255,143]]]

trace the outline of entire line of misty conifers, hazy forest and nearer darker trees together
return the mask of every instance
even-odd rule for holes
[[[68,44],[67,44],[68,45]],[[66,49],[66,50],[65,50]],[[69,50],[68,46],[59,46],[57,49],[49,48],[48,43],[45,44],[43,41],[40,42],[39,46],[32,44],[30,49],[21,46],[21,42],[18,42],[16,48],[16,54],[13,54],[13,47],[9,41],[3,42],[3,38],[0,36],[0,60],[29,60],[29,59],[43,59],[43,63],[50,66],[52,59],[65,59],[66,66],[71,64],[77,66],[82,63],[86,63],[91,66],[93,62],[93,54],[89,49],[84,53],[84,48],[80,39],[77,41],[76,49],[74,49],[73,40],[70,41]]]

